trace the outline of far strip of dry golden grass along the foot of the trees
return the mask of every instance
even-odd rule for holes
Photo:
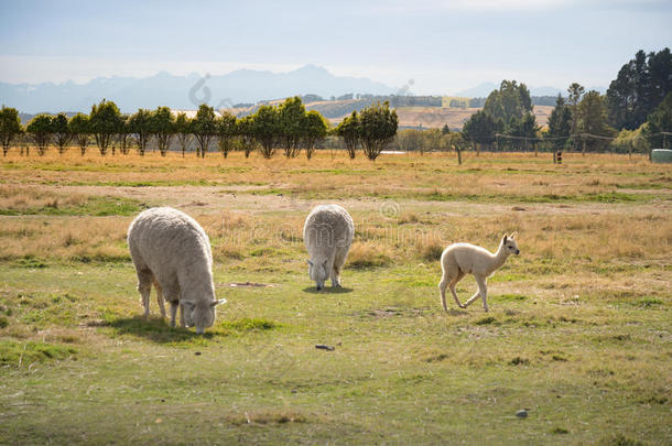
[[[565,164],[553,165],[549,154],[465,154],[457,166],[455,154],[383,155],[376,163],[345,153],[332,160],[319,152],[311,160],[277,156],[246,160],[234,153],[227,160],[210,153],[205,160],[189,154],[182,159],[149,153],[144,157],[117,155],[101,157],[91,152],[84,159],[75,153],[63,156],[50,152],[44,157],[21,157],[10,153],[0,164],[0,181],[11,184],[83,185],[221,185],[231,191],[260,188],[303,196],[392,195],[422,198],[436,194],[521,197],[573,196],[626,192],[643,194],[654,188],[670,196],[672,177],[664,165],[650,164],[638,156],[565,154]],[[329,178],[325,181],[325,178]],[[663,186],[661,188],[661,186]],[[270,191],[269,191],[270,189]],[[435,199],[435,197],[433,198]]]

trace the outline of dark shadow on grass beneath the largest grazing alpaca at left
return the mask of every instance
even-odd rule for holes
[[[144,319],[142,316],[119,317],[104,324],[110,327],[117,335],[133,335],[149,339],[158,344],[183,342],[196,339],[210,339],[213,334],[206,331],[197,335],[194,328],[171,327],[167,319],[150,317]]]

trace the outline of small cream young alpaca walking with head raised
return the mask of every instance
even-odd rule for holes
[[[438,290],[441,291],[441,304],[444,311],[448,311],[446,305],[446,287],[451,290],[451,294],[453,294],[457,306],[460,308],[472,305],[480,296],[484,309],[488,311],[488,302],[486,301],[488,287],[486,282],[506,262],[510,254],[520,253],[518,244],[513,240],[516,235],[517,232],[510,236],[505,235],[496,253],[469,243],[453,243],[443,251],[443,254],[441,254],[443,276],[438,283]],[[478,291],[463,305],[455,293],[455,285],[466,274],[474,274],[478,284]]]

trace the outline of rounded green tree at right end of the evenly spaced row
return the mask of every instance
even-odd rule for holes
[[[399,117],[397,110],[390,110],[390,102],[373,104],[359,113],[361,126],[361,143],[364,153],[371,161],[376,161],[380,152],[397,134]]]

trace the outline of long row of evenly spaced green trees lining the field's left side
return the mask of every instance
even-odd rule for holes
[[[347,122],[329,130],[328,122],[319,112],[305,110],[299,97],[288,98],[278,106],[262,106],[254,115],[237,118],[229,112],[217,116],[213,107],[200,105],[196,116],[174,115],[167,107],[155,110],[139,109],[133,115],[123,115],[115,102],[102,100],[94,105],[89,115],[77,113],[69,118],[65,113],[56,116],[37,115],[23,128],[19,112],[13,108],[0,110],[0,139],[7,155],[17,137],[26,133],[33,140],[39,154],[54,143],[63,154],[71,142],[76,142],[82,155],[91,142],[106,155],[118,150],[129,153],[134,145],[144,155],[148,144],[154,140],[161,155],[165,155],[174,140],[182,155],[191,144],[196,146],[196,155],[205,157],[216,143],[218,151],[227,157],[232,150],[242,150],[246,157],[254,150],[265,159],[271,159],[278,150],[288,157],[305,151],[310,160],[316,144],[328,134],[343,135],[355,157],[358,145],[369,160],[376,160],[384,146],[394,138],[398,117],[389,104],[375,104],[359,115],[354,113]],[[346,129],[344,131],[344,129]]]

